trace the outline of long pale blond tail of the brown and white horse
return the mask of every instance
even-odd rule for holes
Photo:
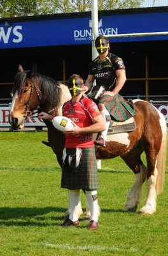
[[[158,160],[157,160],[157,184],[156,184],[156,192],[157,195],[160,194],[164,190],[164,181],[165,181],[165,163],[166,163],[166,154],[167,154],[167,125],[165,123],[164,115],[159,113],[160,115],[160,126],[162,129],[162,144],[160,147],[160,151],[158,152]]]

